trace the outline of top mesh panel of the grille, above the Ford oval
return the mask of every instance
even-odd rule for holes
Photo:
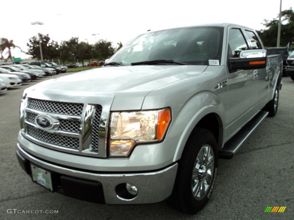
[[[83,104],[29,98],[28,108],[51,113],[81,116]]]

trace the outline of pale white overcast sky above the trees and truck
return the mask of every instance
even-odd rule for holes
[[[90,44],[107,39],[123,45],[147,30],[158,30],[202,23],[228,22],[264,29],[264,19],[278,16],[280,0],[14,0],[0,3],[0,38],[14,40],[27,51],[28,39],[39,32],[49,34],[51,40],[69,40],[78,37]],[[293,0],[282,0],[282,11],[294,7]],[[4,55],[6,57],[7,55]],[[29,58],[19,49],[12,56]]]

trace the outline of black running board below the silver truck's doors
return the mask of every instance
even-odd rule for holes
[[[255,130],[255,128],[268,116],[268,111],[260,111],[243,128],[240,129],[230,140],[228,140],[223,149],[218,151],[218,158],[232,159],[242,144]]]

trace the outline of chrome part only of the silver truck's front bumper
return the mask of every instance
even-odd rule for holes
[[[178,164],[174,163],[157,171],[99,174],[87,170],[80,171],[51,164],[27,153],[21,148],[19,143],[17,144],[17,147],[18,153],[22,157],[39,167],[70,177],[100,182],[103,186],[103,194],[106,204],[148,204],[161,202],[171,195],[178,169]],[[116,186],[122,183],[131,183],[136,186],[138,189],[136,197],[133,199],[123,199],[119,197],[116,193]]]

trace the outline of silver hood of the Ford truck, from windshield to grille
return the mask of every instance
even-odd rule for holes
[[[35,90],[31,94],[44,94],[48,98],[71,95],[76,101],[82,100],[79,96],[112,97],[112,104],[109,103],[112,111],[136,110],[141,109],[145,96],[152,90],[199,74],[206,68],[196,65],[103,67],[46,80],[29,90]]]

